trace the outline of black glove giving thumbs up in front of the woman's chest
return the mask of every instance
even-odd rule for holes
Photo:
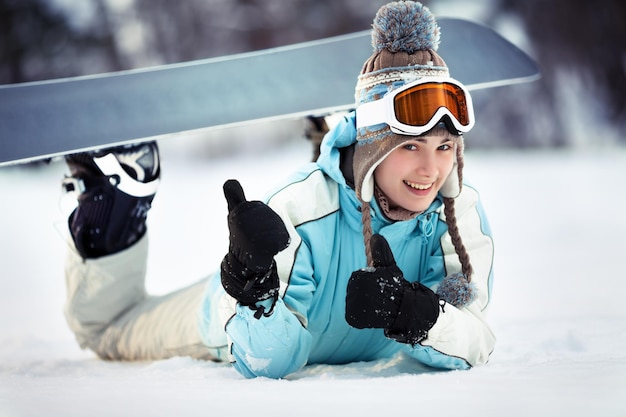
[[[385,329],[391,339],[417,344],[439,317],[439,298],[404,279],[384,237],[372,236],[371,245],[374,268],[354,271],[348,281],[346,321],[357,329]]]

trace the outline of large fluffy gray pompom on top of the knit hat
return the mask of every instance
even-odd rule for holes
[[[398,1],[378,10],[372,25],[372,46],[377,52],[437,50],[440,31],[435,17],[421,3]]]

